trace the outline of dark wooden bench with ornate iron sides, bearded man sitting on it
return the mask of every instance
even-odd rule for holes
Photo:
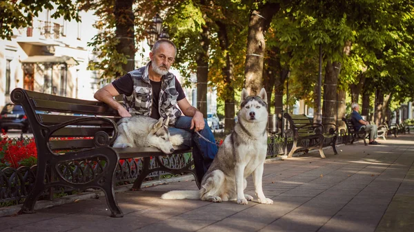
[[[165,156],[154,147],[112,148],[117,134],[117,111],[99,101],[86,101],[63,96],[14,89],[13,103],[23,106],[33,131],[37,147],[37,173],[32,191],[26,198],[21,213],[34,213],[34,204],[46,189],[101,189],[112,217],[123,213],[115,200],[115,171],[120,159],[143,158],[143,167],[132,189],[140,189],[148,174],[167,171],[173,174],[192,173],[193,163],[175,169],[164,165]],[[48,112],[49,114],[39,114]],[[75,138],[64,140],[64,138]],[[174,154],[190,152],[190,147],[174,147]],[[151,168],[151,157],[158,167]],[[136,171],[138,167],[135,167]],[[73,173],[81,173],[75,177]],[[197,186],[199,182],[195,178]]]

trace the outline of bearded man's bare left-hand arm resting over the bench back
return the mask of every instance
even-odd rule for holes
[[[117,110],[119,116],[130,117],[131,114],[121,104],[115,101],[114,96],[118,95],[119,92],[115,89],[112,83],[110,83],[99,89],[93,97],[98,101],[108,104],[112,109]]]

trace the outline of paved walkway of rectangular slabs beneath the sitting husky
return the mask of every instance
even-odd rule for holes
[[[162,200],[194,181],[117,193],[124,218],[104,198],[0,218],[0,231],[413,231],[414,135],[268,162],[264,193],[273,205]],[[248,180],[247,191],[254,195]]]

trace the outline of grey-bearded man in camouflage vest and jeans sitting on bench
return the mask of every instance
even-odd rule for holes
[[[157,41],[149,54],[151,61],[146,66],[99,89],[94,97],[116,109],[122,117],[143,115],[158,120],[169,116],[170,135],[181,134],[184,144],[193,147],[197,179],[201,182],[217,154],[217,145],[210,127],[206,127],[203,114],[188,103],[177,78],[168,72],[176,54],[174,43],[167,39]],[[124,105],[114,99],[119,94],[124,94]],[[184,116],[181,116],[180,109]],[[212,143],[200,138],[195,131]]]

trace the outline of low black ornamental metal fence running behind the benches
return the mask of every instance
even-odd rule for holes
[[[337,144],[344,143],[346,140],[346,135],[338,136]],[[10,140],[25,140],[29,141],[30,138],[10,138]],[[286,140],[286,143],[285,143]],[[329,141],[325,141],[327,144]],[[306,141],[304,141],[306,143]],[[277,155],[284,154],[286,144],[286,152],[288,153],[292,149],[293,142],[289,138],[282,138],[279,136],[270,136],[268,138],[268,151],[267,157],[273,158]],[[326,146],[326,145],[325,145]],[[298,150],[297,152],[301,152]],[[286,154],[287,154],[286,153]],[[186,154],[177,154],[172,156],[163,157],[164,164],[167,167],[172,168],[181,168],[192,161],[192,156],[190,153]],[[70,162],[67,165],[63,165],[64,176],[68,176],[72,181],[86,181],[92,178],[90,175],[93,173],[98,173],[99,168],[102,164],[91,164],[94,161],[83,161],[83,162]],[[157,167],[157,162],[155,159],[152,159],[150,162],[152,168]],[[143,163],[141,159],[128,159],[120,160],[119,165],[116,171],[116,180],[117,185],[130,184],[132,183],[141,173]],[[19,167],[14,169],[13,167],[0,167],[0,207],[19,204],[28,196],[30,190],[34,186],[34,180],[36,178],[37,165],[32,167]],[[89,175],[89,176],[88,176]],[[157,180],[160,178],[169,178],[171,175],[165,172],[154,172],[151,173],[146,180]],[[55,176],[48,171],[46,176],[46,182],[55,180]],[[58,198],[61,196],[70,195],[76,192],[73,189],[65,189],[63,187],[53,187],[48,191],[43,193],[41,196],[42,199],[52,199]]]

